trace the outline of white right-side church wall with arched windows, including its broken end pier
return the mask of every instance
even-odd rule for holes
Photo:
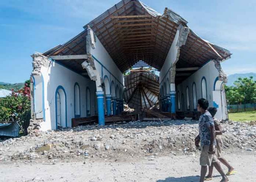
[[[214,61],[210,60],[207,64],[202,66],[198,71],[185,79],[182,83],[177,85],[177,99],[179,100],[181,106],[178,107],[177,111],[194,111],[196,110],[196,100],[205,97],[204,96],[204,84],[202,82],[206,81],[206,98],[209,101],[209,107],[217,107],[218,111],[216,114],[217,119],[227,119],[227,106],[225,101],[225,90],[220,88],[224,86],[223,81],[218,81],[219,71],[215,67]],[[196,88],[196,93],[193,91]],[[203,87],[203,88],[202,88]],[[187,103],[186,89],[189,90],[189,104]],[[183,95],[183,99],[181,96]],[[189,105],[189,109],[187,108]],[[179,109],[180,108],[180,109]]]

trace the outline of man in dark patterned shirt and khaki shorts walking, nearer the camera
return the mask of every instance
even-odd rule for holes
[[[211,114],[207,111],[209,107],[209,102],[206,99],[198,100],[198,111],[201,113],[199,117],[199,135],[195,139],[196,146],[201,148],[200,155],[200,166],[201,166],[201,174],[200,181],[203,182],[205,180],[205,176],[207,173],[207,166],[213,166],[216,170],[221,174],[222,180],[220,182],[229,181],[225,173],[223,172],[220,163],[218,163],[215,148],[216,148],[216,140],[215,140],[215,128],[213,123],[213,118]]]

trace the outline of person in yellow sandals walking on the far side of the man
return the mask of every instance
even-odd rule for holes
[[[228,163],[227,160],[225,160],[222,156],[221,156],[221,151],[222,151],[222,146],[223,146],[223,142],[221,140],[221,136],[222,135],[222,129],[220,126],[220,122],[214,118],[216,112],[217,112],[217,108],[215,107],[209,107],[208,111],[210,112],[212,118],[213,118],[213,122],[214,122],[214,127],[215,127],[215,135],[216,135],[216,147],[217,147],[217,159],[223,163],[225,166],[227,166],[228,168],[228,172],[227,172],[227,176],[234,174],[236,171],[234,171],[234,168]],[[209,173],[208,175],[205,177],[205,181],[210,181],[213,179],[213,165],[211,165],[209,167]]]

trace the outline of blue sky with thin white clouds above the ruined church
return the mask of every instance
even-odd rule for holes
[[[118,0],[1,0],[0,81],[24,82],[33,52],[45,52],[80,33]],[[255,0],[142,0],[163,14],[180,14],[200,37],[229,49],[227,74],[256,73]]]

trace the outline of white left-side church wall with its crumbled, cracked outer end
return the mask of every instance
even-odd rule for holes
[[[80,115],[86,116],[86,89],[90,90],[90,114],[96,114],[96,86],[95,82],[83,77],[82,75],[71,71],[70,69],[54,62],[41,53],[35,53],[33,56],[33,71],[35,77],[36,95],[35,93],[35,108],[41,107],[45,112],[45,121],[40,123],[41,130],[56,129],[56,89],[62,86],[65,90],[67,110],[61,111],[67,113],[67,126],[71,126],[71,119],[75,117],[74,108],[74,86],[78,83],[80,89]],[[42,81],[41,77],[43,78]],[[38,78],[38,79],[37,79]],[[38,85],[41,87],[38,87]],[[42,102],[44,101],[44,105]],[[42,108],[43,105],[43,108]],[[33,107],[33,105],[31,106]],[[65,123],[65,122],[62,122]],[[65,126],[63,126],[65,127]]]

